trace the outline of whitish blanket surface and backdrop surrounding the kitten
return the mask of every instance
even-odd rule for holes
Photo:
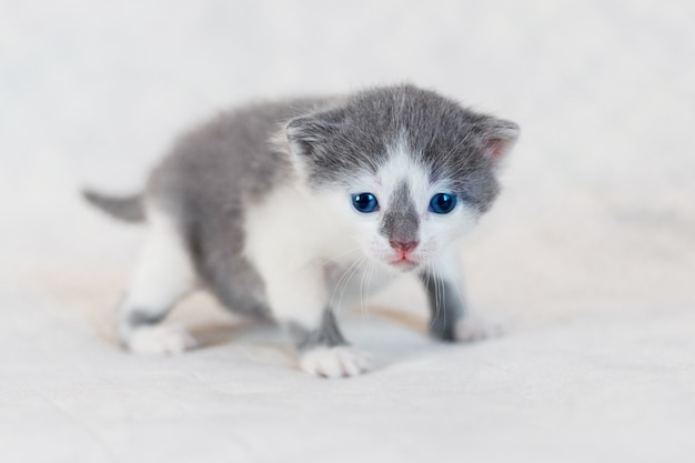
[[[693,6],[465,3],[0,3],[0,461],[691,461]],[[401,80],[522,125],[463,253],[505,338],[431,343],[405,279],[345,324],[355,380],[200,298],[208,349],[114,349],[142,231],[79,184],[135,189],[234,102]]]

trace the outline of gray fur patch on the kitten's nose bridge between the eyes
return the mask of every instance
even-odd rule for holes
[[[380,232],[391,242],[417,241],[420,218],[406,181],[393,191],[389,209],[384,212]]]

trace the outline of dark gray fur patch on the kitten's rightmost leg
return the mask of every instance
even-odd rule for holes
[[[430,335],[442,341],[455,341],[455,328],[465,315],[461,294],[452,283],[432,272],[423,272],[420,280],[425,286],[430,303]]]

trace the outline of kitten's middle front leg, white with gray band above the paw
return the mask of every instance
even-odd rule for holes
[[[328,291],[320,269],[298,272],[275,268],[264,275],[273,313],[288,328],[303,371],[341,378],[370,370],[370,355],[349,345],[328,308]]]

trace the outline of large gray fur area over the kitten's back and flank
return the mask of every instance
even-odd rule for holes
[[[292,179],[288,153],[272,137],[324,99],[256,103],[218,115],[181,137],[152,172],[150,208],[171,215],[201,280],[226,305],[266,313],[263,283],[242,255],[245,209]]]

